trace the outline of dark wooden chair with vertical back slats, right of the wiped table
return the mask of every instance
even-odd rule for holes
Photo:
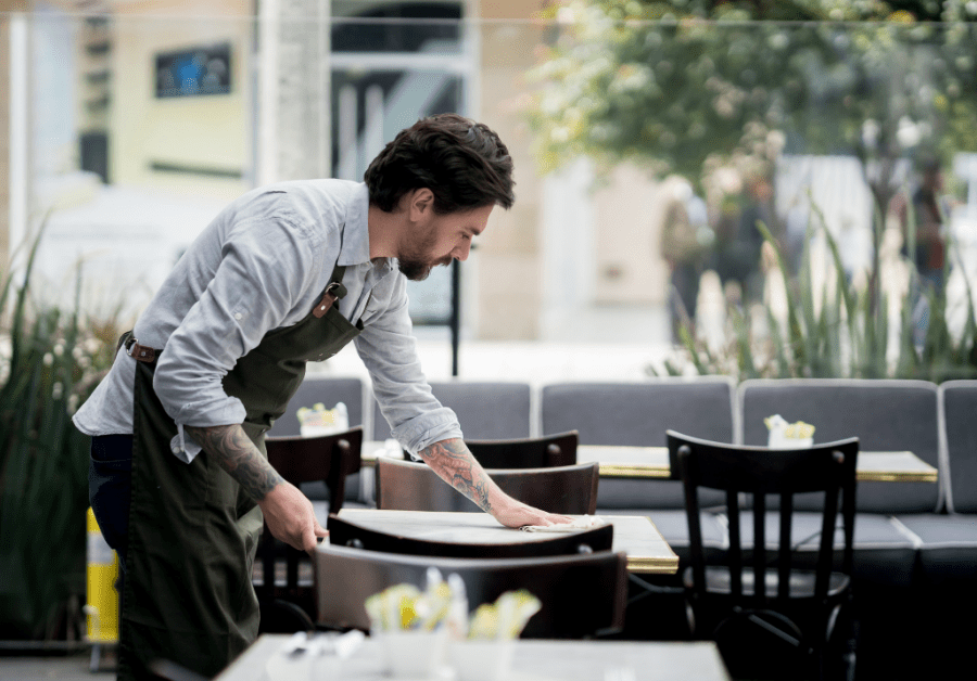
[[[771,450],[669,431],[668,442],[685,487],[691,565],[684,580],[694,633],[716,641],[736,678],[796,678],[798,665],[823,678],[834,625],[851,599],[858,438]],[[706,562],[699,488],[726,496],[729,548],[722,565]],[[812,492],[823,494],[820,545],[815,568],[801,569],[794,555],[794,499],[810,500]],[[740,499],[746,494],[749,505]],[[836,565],[839,501],[842,552]],[[753,521],[750,556],[741,540],[741,507],[751,509]],[[766,540],[767,509],[777,511],[773,545]]]

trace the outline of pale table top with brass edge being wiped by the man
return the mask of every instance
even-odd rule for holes
[[[435,541],[510,543],[553,537],[548,532],[504,527],[487,513],[343,509],[340,516],[363,527]],[[678,570],[678,556],[650,518],[637,515],[600,517],[614,526],[611,550],[627,554],[629,571],[674,575]]]

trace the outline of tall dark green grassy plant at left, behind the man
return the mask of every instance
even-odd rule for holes
[[[113,323],[33,304],[39,241],[0,290],[0,639],[66,635],[84,600],[88,438],[71,415],[114,355]]]

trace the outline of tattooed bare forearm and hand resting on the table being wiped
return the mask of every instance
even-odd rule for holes
[[[571,522],[517,501],[498,488],[460,439],[434,442],[418,452],[431,470],[507,527]]]

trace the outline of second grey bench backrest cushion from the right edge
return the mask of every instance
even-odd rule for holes
[[[781,414],[788,423],[812,424],[815,444],[858,437],[862,451],[909,450],[939,467],[937,391],[925,381],[745,381],[739,386],[740,441],[765,446],[769,432],[763,420]],[[932,483],[859,483],[858,510],[867,513],[928,513],[940,501],[940,486]]]

